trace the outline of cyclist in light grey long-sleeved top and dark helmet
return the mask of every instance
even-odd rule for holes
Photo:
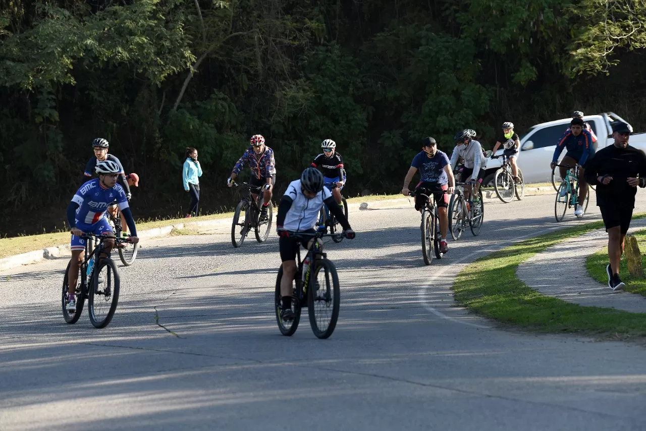
[[[464,160],[464,167],[462,169],[462,178],[464,183],[464,197],[469,198],[471,189],[474,189],[474,202],[478,202],[478,189],[480,184],[485,178],[486,159],[483,155],[483,147],[479,142],[474,141],[475,131],[472,129],[464,129],[455,134],[455,149],[451,154],[451,169],[455,170],[459,158]],[[485,163],[483,163],[485,161]],[[483,166],[483,164],[485,166]]]

